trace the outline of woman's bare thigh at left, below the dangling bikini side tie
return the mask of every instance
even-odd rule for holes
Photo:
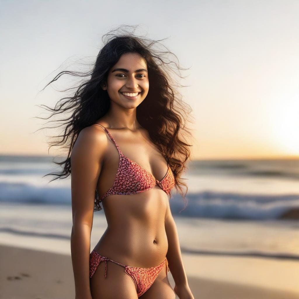
[[[105,262],[101,262],[90,278],[91,297],[93,299],[137,299],[137,291],[131,277],[125,273],[125,268],[107,261],[107,276]]]

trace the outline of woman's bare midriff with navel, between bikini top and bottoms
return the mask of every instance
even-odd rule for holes
[[[167,194],[160,187],[132,195],[106,197],[108,228],[95,247],[101,255],[128,266],[152,267],[167,254]]]

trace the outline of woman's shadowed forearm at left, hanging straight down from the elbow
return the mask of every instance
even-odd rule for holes
[[[89,254],[91,228],[75,224],[71,232],[71,257],[76,298],[91,298],[89,284]]]

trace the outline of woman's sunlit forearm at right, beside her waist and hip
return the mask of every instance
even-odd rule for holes
[[[179,235],[176,228],[176,223],[172,216],[165,221],[165,230],[168,240],[167,260],[169,270],[173,276],[176,285],[187,285],[187,275],[183,266],[181,256],[181,248],[179,244]]]

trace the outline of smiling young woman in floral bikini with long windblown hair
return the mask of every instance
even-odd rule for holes
[[[133,34],[107,36],[91,78],[68,105],[53,109],[72,112],[60,176],[71,173],[76,299],[194,299],[168,196],[176,187],[186,204],[180,174],[190,158],[181,138],[186,103],[164,58],[171,52],[154,50],[157,42]],[[90,253],[100,203],[108,227]]]

